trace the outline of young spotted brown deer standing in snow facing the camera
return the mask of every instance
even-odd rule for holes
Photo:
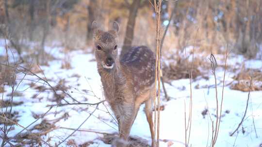
[[[134,46],[118,55],[119,25],[113,22],[108,31],[92,23],[95,57],[105,100],[118,123],[115,147],[127,147],[132,124],[142,103],[149,124],[152,147],[154,130],[152,102],[155,85],[155,54],[147,46]],[[114,147],[113,146],[113,147]]]

